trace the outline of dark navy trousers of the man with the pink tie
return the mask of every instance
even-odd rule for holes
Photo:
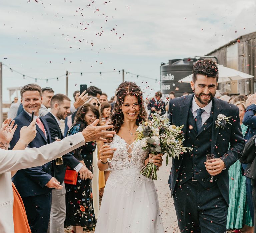
[[[52,193],[22,197],[32,233],[46,233],[50,220]]]

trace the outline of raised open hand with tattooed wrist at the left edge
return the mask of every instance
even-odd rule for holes
[[[11,124],[10,124],[11,123]],[[13,134],[17,128],[17,124],[13,127],[14,120],[11,118],[5,119],[5,121],[2,123],[2,127],[0,129],[0,141],[2,143],[8,143],[12,140]]]

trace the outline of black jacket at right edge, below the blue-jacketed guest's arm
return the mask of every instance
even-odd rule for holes
[[[248,164],[244,174],[246,177],[250,179],[256,180],[256,146],[255,146],[255,138],[254,135],[245,145],[244,151],[240,158],[240,162],[244,164]]]

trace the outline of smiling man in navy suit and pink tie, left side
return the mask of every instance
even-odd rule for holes
[[[37,84],[27,84],[21,88],[22,113],[14,120],[18,125],[10,147],[13,148],[20,137],[20,129],[29,126],[32,111],[36,119],[37,134],[28,147],[41,147],[52,142],[47,122],[39,117],[42,102],[42,92]],[[13,182],[18,189],[28,217],[32,233],[46,233],[51,210],[51,190],[61,189],[60,182],[53,177],[52,162],[43,166],[19,170],[13,177]]]

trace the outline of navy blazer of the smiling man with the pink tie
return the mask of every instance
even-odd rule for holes
[[[18,127],[10,142],[11,149],[16,145],[20,138],[20,129],[23,126],[30,125],[31,117],[23,110],[19,116],[14,118],[14,120]],[[43,131],[36,124],[37,133],[34,140],[28,144],[28,147],[30,148],[38,148],[52,142],[47,122],[41,117],[40,120],[47,133],[47,139]],[[48,162],[43,166],[19,170],[13,177],[13,183],[22,197],[37,196],[51,192],[52,189],[45,186],[51,178],[52,167],[51,162]]]

